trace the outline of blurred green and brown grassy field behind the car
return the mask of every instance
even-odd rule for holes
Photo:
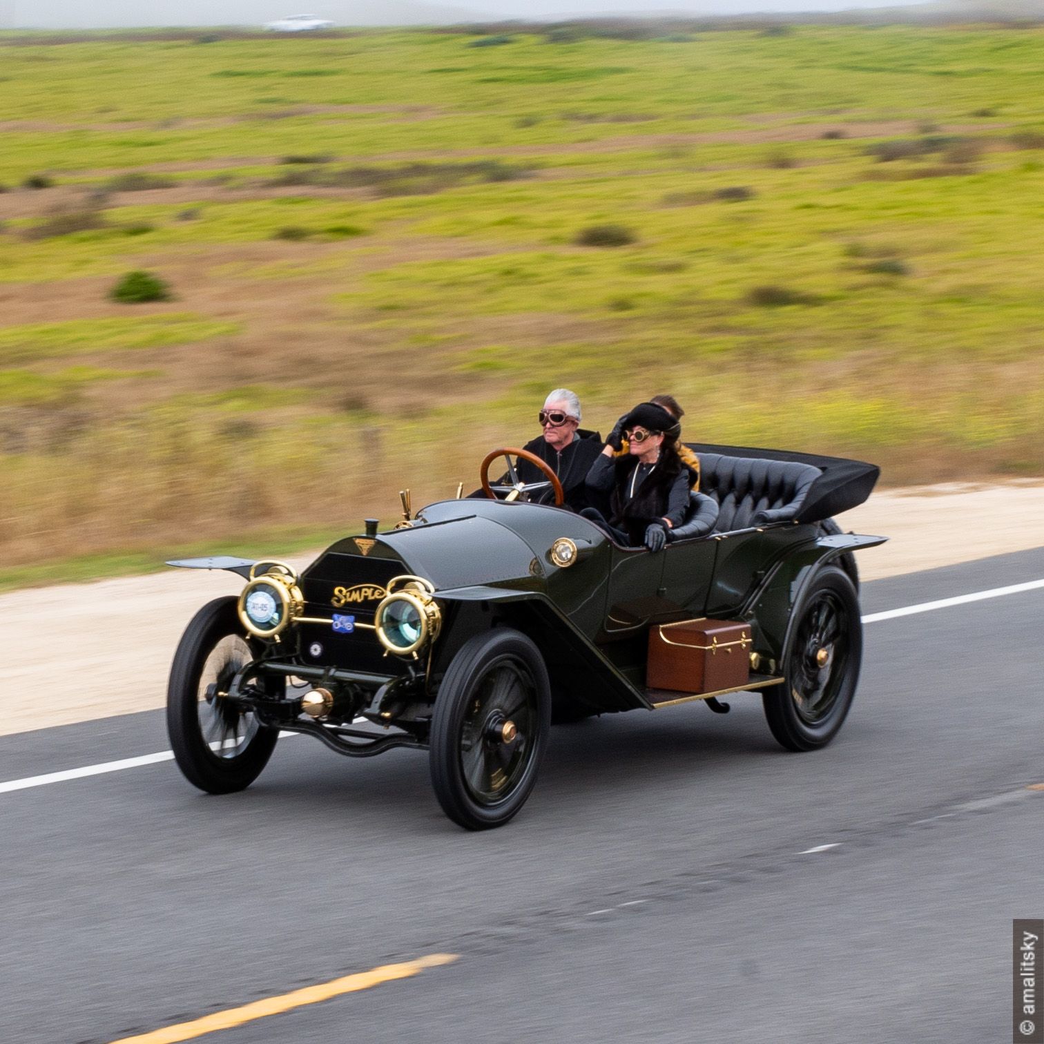
[[[557,385],[1044,473],[1044,30],[482,39],[0,33],[0,584],[390,520]]]

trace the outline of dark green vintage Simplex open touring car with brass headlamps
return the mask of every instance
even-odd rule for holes
[[[300,575],[276,561],[170,563],[246,580],[199,610],[175,654],[167,722],[182,772],[212,793],[242,789],[281,730],[352,757],[427,749],[446,814],[479,830],[522,807],[552,721],[690,699],[723,712],[717,697],[751,691],[783,746],[828,743],[862,652],[852,551],[885,539],[831,517],[865,500],[878,470],[689,445],[701,492],[657,553],[556,506],[546,468],[546,482],[518,481],[523,451],[504,449],[483,461],[487,498],[458,491],[411,518],[403,495],[395,528],[369,520]],[[499,456],[511,480],[495,487]],[[705,618],[745,624],[738,683],[650,688],[650,635]]]

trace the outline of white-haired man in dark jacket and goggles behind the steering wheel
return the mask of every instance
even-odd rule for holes
[[[544,400],[544,408],[538,413],[542,434],[522,447],[539,456],[559,476],[566,496],[565,506],[574,512],[589,506],[585,479],[602,447],[601,435],[582,428],[580,418],[580,401],[576,393],[555,388]],[[519,458],[516,471],[523,482],[547,480],[536,465],[523,457]],[[506,476],[500,481],[506,481]],[[543,496],[537,497],[537,501],[548,499],[550,491],[546,491]],[[484,494],[476,490],[470,496],[481,497]]]

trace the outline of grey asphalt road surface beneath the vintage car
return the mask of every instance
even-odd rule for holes
[[[1041,577],[1044,549],[867,585],[863,611]],[[1011,920],[1044,917],[1042,638],[1044,589],[869,624],[813,754],[751,696],[552,730],[483,834],[443,816],[425,755],[304,737],[224,798],[172,762],[0,793],[0,1042],[429,953],[458,959],[201,1039],[1009,1040]],[[56,661],[53,698],[75,681]],[[0,782],[167,745],[152,712],[8,736]]]

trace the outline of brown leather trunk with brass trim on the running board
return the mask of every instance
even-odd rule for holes
[[[736,620],[679,620],[649,628],[645,684],[674,692],[718,692],[751,677],[751,625]]]

